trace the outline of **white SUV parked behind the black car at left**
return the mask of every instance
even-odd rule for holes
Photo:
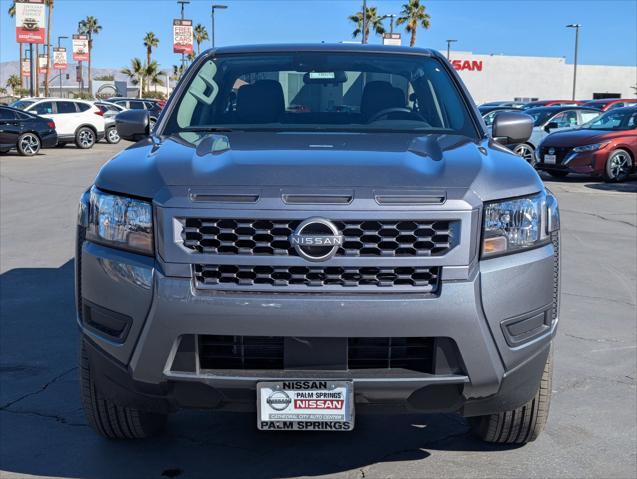
[[[58,146],[74,142],[78,148],[92,148],[104,138],[104,116],[93,103],[69,98],[24,98],[14,104],[55,122]]]

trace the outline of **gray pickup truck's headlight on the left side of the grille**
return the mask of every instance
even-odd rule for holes
[[[147,201],[91,188],[86,238],[115,248],[153,254],[153,208]]]

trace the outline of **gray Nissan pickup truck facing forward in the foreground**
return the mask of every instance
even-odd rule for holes
[[[559,311],[559,213],[437,52],[227,47],[78,215],[81,394],[111,438],[180,408],[349,431],[368,411],[456,412],[486,441],[541,432]],[[373,420],[369,416],[367,420]]]

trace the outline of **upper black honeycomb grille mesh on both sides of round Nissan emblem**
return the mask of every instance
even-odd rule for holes
[[[193,252],[297,256],[289,237],[300,220],[181,218],[183,246]],[[337,256],[440,256],[458,241],[458,221],[334,221],[343,235]]]

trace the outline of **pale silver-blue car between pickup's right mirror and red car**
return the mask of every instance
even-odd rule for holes
[[[550,133],[575,128],[600,115],[599,110],[579,106],[546,106],[524,110],[524,113],[533,117],[533,133],[525,143],[509,148],[531,164],[535,163],[535,149]]]

